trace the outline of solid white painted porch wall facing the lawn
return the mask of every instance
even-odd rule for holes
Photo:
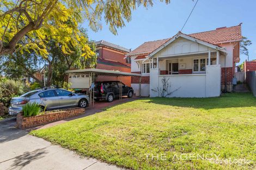
[[[157,69],[150,70],[150,97],[160,97],[163,84],[166,79],[170,87],[171,95],[166,97],[217,97],[221,93],[221,66],[206,66],[205,74],[178,74],[159,75]],[[157,77],[158,82],[157,82]],[[151,89],[154,89],[151,90]],[[167,94],[165,93],[164,96]]]

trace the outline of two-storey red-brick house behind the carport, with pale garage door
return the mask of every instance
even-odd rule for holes
[[[95,68],[102,70],[131,72],[131,59],[125,57],[130,49],[115,45],[105,40],[96,41],[97,65]],[[131,85],[131,77],[117,78],[100,75],[96,81],[121,80],[124,84]],[[84,74],[69,74],[69,83],[73,89],[89,88],[89,76]]]

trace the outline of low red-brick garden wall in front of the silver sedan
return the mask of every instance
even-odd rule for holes
[[[38,125],[47,124],[62,120],[64,118],[74,117],[84,114],[83,108],[70,108],[65,110],[47,111],[43,115],[23,117],[22,114],[17,115],[17,127],[20,129],[32,128]]]

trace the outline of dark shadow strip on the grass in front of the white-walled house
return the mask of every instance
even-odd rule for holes
[[[243,108],[256,106],[252,93],[223,93],[221,97],[212,98],[148,98],[148,103],[181,106],[186,108]],[[148,100],[147,99],[147,100]]]

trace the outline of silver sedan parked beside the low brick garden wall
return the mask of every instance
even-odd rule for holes
[[[89,96],[72,93],[64,89],[34,90],[25,93],[20,97],[11,99],[9,115],[17,115],[22,111],[22,106],[27,103],[37,103],[42,109],[54,110],[79,106],[86,108],[89,103]]]

